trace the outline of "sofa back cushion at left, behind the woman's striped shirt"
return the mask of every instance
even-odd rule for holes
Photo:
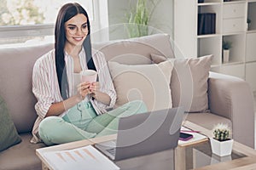
[[[32,94],[33,65],[52,48],[53,44],[0,48],[0,95],[19,133],[31,132],[37,118],[34,109],[37,99]]]

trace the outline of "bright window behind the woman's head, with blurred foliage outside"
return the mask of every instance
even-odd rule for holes
[[[0,0],[0,45],[53,42],[57,13],[67,0]],[[93,0],[76,0],[96,25]]]

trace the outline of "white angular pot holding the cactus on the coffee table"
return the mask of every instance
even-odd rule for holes
[[[210,138],[212,153],[217,156],[230,156],[233,147],[233,139],[225,140],[225,141],[218,141],[216,139]]]

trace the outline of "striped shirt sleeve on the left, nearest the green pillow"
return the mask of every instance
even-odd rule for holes
[[[54,97],[52,94],[50,83],[50,71],[47,69],[47,60],[38,59],[33,67],[32,73],[32,92],[38,99],[35,105],[35,110],[37,114],[42,119],[46,116],[50,105],[54,102]]]

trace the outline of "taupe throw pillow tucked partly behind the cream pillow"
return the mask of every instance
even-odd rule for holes
[[[175,59],[172,71],[172,105],[183,105],[185,111],[208,110],[208,77],[213,55],[199,58]],[[154,63],[166,61],[166,57],[151,54]]]

